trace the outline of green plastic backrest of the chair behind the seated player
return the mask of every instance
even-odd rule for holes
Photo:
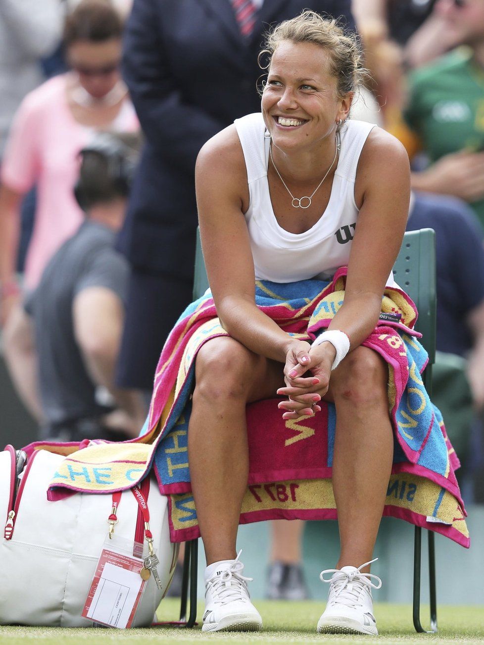
[[[418,309],[416,328],[423,334],[422,344],[429,353],[429,363],[435,360],[436,343],[436,257],[435,232],[431,228],[408,231],[393,267],[395,280],[409,294]],[[208,289],[200,233],[197,232],[195,279],[193,297],[199,298]]]

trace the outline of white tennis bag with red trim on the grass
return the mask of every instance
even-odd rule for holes
[[[149,553],[142,505],[133,491],[122,492],[116,523],[111,515],[111,495],[75,493],[60,501],[47,501],[48,484],[63,459],[37,450],[18,480],[14,448],[6,446],[0,452],[0,519],[5,521],[0,535],[0,624],[92,626],[92,620],[82,618],[81,613],[106,542],[125,541],[132,550],[136,539],[144,544],[142,555],[138,555],[144,558]],[[145,482],[161,589],[151,570],[133,627],[153,622],[177,562],[178,545],[169,541],[167,498],[160,494],[155,479],[146,497],[147,486]],[[110,526],[112,541],[108,538]],[[146,576],[146,569],[143,573]]]

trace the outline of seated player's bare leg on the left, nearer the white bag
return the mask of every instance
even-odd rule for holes
[[[246,404],[273,396],[283,366],[220,337],[200,348],[189,422],[190,477],[207,564],[234,559],[247,488]]]

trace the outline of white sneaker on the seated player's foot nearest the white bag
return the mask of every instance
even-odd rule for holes
[[[235,560],[217,562],[205,582],[205,613],[202,631],[259,631],[260,613],[251,603],[239,551]]]

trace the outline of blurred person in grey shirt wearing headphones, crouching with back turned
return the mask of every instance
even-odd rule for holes
[[[129,272],[114,243],[138,150],[136,135],[103,132],[81,151],[74,191],[86,219],[24,304],[37,352],[45,441],[123,441],[139,434],[146,416],[139,393],[114,385]],[[26,376],[25,382],[35,382]],[[36,395],[31,389],[20,394]]]

